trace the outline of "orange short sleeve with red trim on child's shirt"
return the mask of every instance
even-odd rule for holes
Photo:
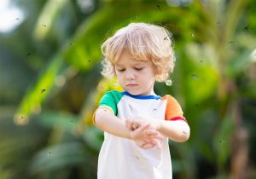
[[[187,122],[186,118],[183,117],[182,108],[172,95],[165,95],[161,100],[167,101],[165,115],[166,120],[184,120]]]

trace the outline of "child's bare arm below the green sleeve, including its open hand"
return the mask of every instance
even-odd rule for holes
[[[160,133],[156,130],[150,130],[150,125],[143,125],[137,130],[129,130],[125,127],[125,122],[117,118],[108,108],[99,108],[95,113],[96,126],[114,136],[134,140],[139,147],[147,149],[154,146],[160,147],[157,139],[162,139]]]

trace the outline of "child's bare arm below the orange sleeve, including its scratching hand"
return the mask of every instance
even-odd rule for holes
[[[151,129],[159,131],[162,135],[167,136],[172,141],[188,141],[190,136],[189,124],[183,120],[160,120],[157,118],[129,118],[126,127],[129,130],[135,130],[144,124],[150,124]]]

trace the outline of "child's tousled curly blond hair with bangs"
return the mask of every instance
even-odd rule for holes
[[[102,43],[102,75],[115,76],[114,64],[126,50],[137,61],[152,61],[155,80],[166,82],[173,71],[175,55],[170,32],[161,26],[148,23],[131,23]]]

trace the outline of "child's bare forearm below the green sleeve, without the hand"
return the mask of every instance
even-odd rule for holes
[[[125,127],[125,122],[106,109],[98,109],[96,111],[95,124],[96,127],[109,134],[131,139],[131,131]]]

